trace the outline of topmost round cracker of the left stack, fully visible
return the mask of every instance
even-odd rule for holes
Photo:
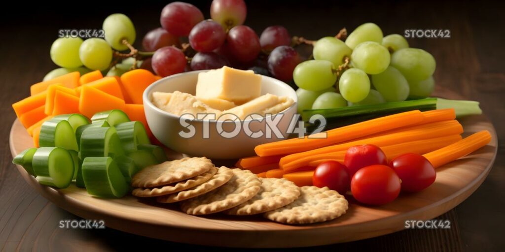
[[[143,168],[131,179],[133,187],[157,187],[196,177],[214,165],[206,157],[182,158]]]

